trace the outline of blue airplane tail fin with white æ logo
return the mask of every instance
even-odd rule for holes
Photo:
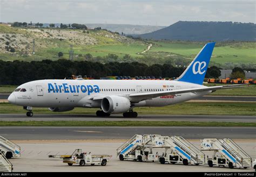
[[[177,80],[202,85],[214,45],[215,43],[206,44]]]

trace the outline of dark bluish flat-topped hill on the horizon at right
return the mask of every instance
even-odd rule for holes
[[[183,22],[138,35],[145,39],[190,41],[256,41],[256,24],[239,22]]]

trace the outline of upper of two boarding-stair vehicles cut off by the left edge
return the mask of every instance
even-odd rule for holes
[[[21,147],[0,136],[0,152],[5,155],[7,159],[16,158],[21,156]]]

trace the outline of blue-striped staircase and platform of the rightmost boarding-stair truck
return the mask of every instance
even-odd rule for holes
[[[233,168],[233,166],[248,168],[252,164],[251,156],[229,138],[203,139],[201,140],[201,150],[219,152],[225,158],[227,164],[232,162],[233,165],[228,165],[230,168]]]

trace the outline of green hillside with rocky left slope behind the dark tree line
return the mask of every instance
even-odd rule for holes
[[[33,39],[35,39],[35,54],[32,54]],[[205,43],[139,40],[105,30],[12,28],[0,25],[0,59],[4,61],[57,60],[58,52],[64,53],[60,58],[69,59],[70,45],[73,45],[75,60],[187,65]],[[149,44],[153,44],[150,50],[141,53]],[[9,49],[13,47],[15,52],[7,51],[6,46]],[[223,68],[233,68],[234,65],[256,67],[255,51],[255,42],[217,42],[211,65]],[[87,53],[92,57],[87,57]],[[109,53],[117,57],[111,58]]]

